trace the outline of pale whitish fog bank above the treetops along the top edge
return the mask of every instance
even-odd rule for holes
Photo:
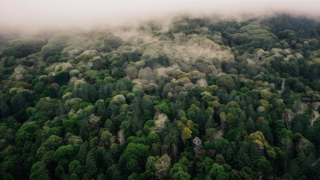
[[[318,7],[317,0],[0,0],[0,33],[134,26],[148,19],[166,22],[179,14],[239,18],[286,12],[318,17]]]

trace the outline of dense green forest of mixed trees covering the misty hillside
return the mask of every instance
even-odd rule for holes
[[[0,179],[320,179],[320,21],[0,35]]]

